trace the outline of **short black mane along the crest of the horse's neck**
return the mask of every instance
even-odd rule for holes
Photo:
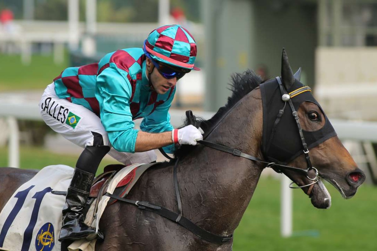
[[[204,135],[207,135],[207,132],[210,132],[213,126],[216,126],[219,120],[246,94],[250,91],[259,87],[262,83],[260,76],[256,75],[252,70],[246,70],[243,73],[234,73],[231,76],[231,84],[229,90],[232,91],[230,97],[228,97],[228,102],[225,106],[219,108],[217,113],[211,117],[211,119],[204,120],[198,117],[195,117],[195,123],[200,123],[200,127],[204,131]],[[190,122],[188,119],[185,120],[183,126],[189,125]],[[183,127],[182,126],[182,127]],[[181,148],[177,149],[174,152],[175,157],[184,157],[187,155],[190,150],[193,149],[193,146],[182,145]]]

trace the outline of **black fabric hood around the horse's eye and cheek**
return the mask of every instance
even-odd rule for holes
[[[303,154],[303,145],[300,139],[299,129],[292,114],[290,105],[282,100],[279,82],[272,79],[260,85],[263,104],[263,136],[262,136],[262,152],[264,157],[270,161],[280,164],[287,164],[294,160],[297,156]],[[300,90],[300,88],[302,88]],[[293,96],[293,93],[296,96]],[[291,100],[295,110],[297,111],[300,104],[304,101],[319,103],[314,99],[310,89],[308,90],[297,79],[287,93],[291,93]],[[284,113],[276,123],[279,111],[284,109]],[[320,107],[322,110],[322,108]],[[323,111],[323,110],[322,110]],[[280,112],[281,113],[281,112]],[[325,113],[323,113],[325,114]],[[336,132],[329,122],[325,114],[325,125],[317,131],[303,131],[308,149],[311,149],[323,141],[336,136]],[[273,130],[275,130],[273,132]],[[272,138],[271,138],[272,137]]]

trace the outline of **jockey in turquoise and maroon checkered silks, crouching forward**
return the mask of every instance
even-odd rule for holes
[[[202,140],[192,125],[174,129],[168,112],[178,79],[200,70],[195,57],[192,35],[166,25],[149,34],[143,49],[116,50],[98,63],[66,68],[48,85],[39,103],[44,122],[84,148],[67,190],[59,241],[95,235],[83,222],[83,208],[104,155],[125,165],[150,163],[157,158],[153,149],[172,153],[177,143]]]

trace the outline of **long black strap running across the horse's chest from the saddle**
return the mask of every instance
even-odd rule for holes
[[[151,211],[153,213],[159,214],[170,221],[177,222],[182,227],[186,228],[187,230],[191,231],[196,236],[201,237],[204,240],[207,240],[208,242],[222,244],[224,242],[227,242],[233,238],[233,234],[227,235],[227,236],[221,236],[217,234],[213,234],[208,232],[207,230],[204,230],[203,228],[199,227],[198,225],[195,225],[192,221],[185,218],[184,216],[180,216],[179,214],[170,211],[167,208],[160,207],[158,205],[151,204],[147,201],[133,201],[131,199],[121,198],[117,195],[113,195],[111,193],[105,193],[104,195],[109,196],[111,198],[117,199],[119,201],[124,201],[133,205],[138,206],[142,210]],[[177,218],[180,216],[179,221],[176,221]]]

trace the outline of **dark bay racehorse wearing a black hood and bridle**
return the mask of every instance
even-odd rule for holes
[[[208,233],[228,236],[226,240],[210,242],[175,221],[117,201],[103,212],[99,229],[105,238],[96,242],[95,250],[232,250],[231,234],[265,167],[288,176],[316,208],[331,205],[320,178],[344,198],[354,196],[365,175],[336,136],[310,88],[293,75],[284,49],[281,75],[265,82],[250,70],[233,75],[232,94],[225,106],[209,120],[191,117],[185,122],[200,126],[205,140],[182,146],[174,160],[148,169],[127,195],[130,200],[180,211]],[[300,102],[290,102],[300,97]],[[0,172],[1,209],[36,171],[2,168]]]

